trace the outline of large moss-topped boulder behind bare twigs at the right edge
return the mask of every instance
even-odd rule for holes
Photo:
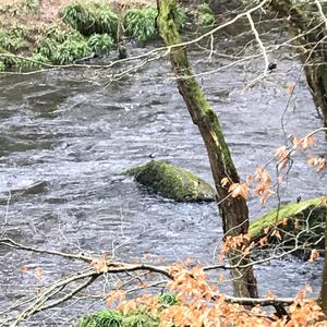
[[[265,245],[282,244],[290,250],[324,249],[325,223],[327,218],[326,197],[316,197],[299,203],[289,203],[268,211],[250,223],[252,241],[267,237]],[[303,251],[299,251],[303,253]],[[296,252],[295,254],[299,254]]]

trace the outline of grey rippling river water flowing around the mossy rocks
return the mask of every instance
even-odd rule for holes
[[[221,59],[197,51],[191,58],[196,72],[221,64]],[[290,95],[284,88],[296,81],[301,66],[278,60],[277,72],[252,88],[244,81],[261,73],[262,60],[199,77],[242,178],[284,144],[284,111],[287,135],[303,136],[320,125],[303,77],[286,110]],[[156,154],[213,181],[202,138],[168,61],[153,62],[107,87],[98,85],[106,82],[105,72],[98,74],[71,69],[0,77],[1,235],[47,250],[99,254],[111,253],[113,246],[116,256],[129,262],[150,255],[155,261],[192,257],[213,263],[221,239],[215,204],[167,201],[122,175],[124,168]],[[312,152],[326,155],[324,137],[317,137]],[[281,190],[282,201],[326,194],[326,173],[315,173],[299,155]],[[256,217],[274,202],[263,208],[251,198],[249,205]],[[73,262],[3,246],[0,256],[1,312],[37,286],[78,269]],[[44,271],[41,280],[34,276],[36,267]],[[294,295],[306,282],[317,292],[320,271],[319,261],[289,257],[255,269],[261,294],[271,290],[279,296]],[[23,325],[70,326],[93,302],[97,300],[80,296]],[[97,302],[96,307],[101,305]]]

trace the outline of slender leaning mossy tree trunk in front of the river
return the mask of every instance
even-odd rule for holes
[[[180,44],[181,38],[174,23],[175,0],[157,0],[157,5],[159,11],[157,24],[160,36],[167,46]],[[219,199],[227,197],[219,203],[225,234],[245,234],[249,229],[246,202],[242,197],[228,196],[228,190],[220,185],[223,178],[228,178],[233,183],[238,183],[240,179],[225,142],[218,118],[193,76],[185,49],[173,47],[170,52],[170,61],[178,77],[179,92],[206,145],[218,197]],[[240,253],[230,252],[229,261],[232,266],[244,266],[249,263],[249,257],[240,259]],[[256,280],[251,266],[232,269],[231,274],[237,296],[257,296]]]

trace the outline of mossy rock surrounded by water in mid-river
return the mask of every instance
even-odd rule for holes
[[[124,173],[164,197],[178,202],[215,201],[215,190],[207,182],[186,169],[165,161],[152,160]]]

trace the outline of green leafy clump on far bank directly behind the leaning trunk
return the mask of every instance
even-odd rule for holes
[[[156,17],[158,15],[155,5],[148,5],[142,9],[131,9],[124,15],[123,25],[128,35],[145,43],[158,37],[156,28]],[[178,7],[177,25],[181,29],[186,21],[185,9]]]

